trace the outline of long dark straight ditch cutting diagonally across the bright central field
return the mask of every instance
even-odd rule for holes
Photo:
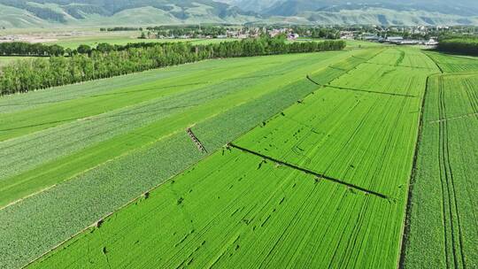
[[[389,196],[385,196],[379,192],[376,192],[374,190],[370,190],[370,189],[366,189],[366,188],[362,188],[362,187],[359,187],[357,185],[354,185],[354,184],[351,184],[351,183],[348,183],[348,182],[345,182],[345,181],[341,181],[341,180],[338,180],[338,179],[335,179],[333,177],[330,177],[328,175],[325,175],[325,174],[322,174],[322,173],[317,173],[317,172],[314,172],[312,170],[309,170],[309,169],[306,169],[306,168],[303,168],[303,167],[299,167],[297,165],[292,165],[292,164],[289,164],[289,163],[286,163],[284,161],[281,161],[279,159],[276,159],[276,158],[272,158],[272,157],[269,157],[269,156],[266,156],[264,154],[261,154],[261,153],[258,153],[256,151],[253,151],[253,150],[248,150],[248,149],[245,149],[241,146],[238,146],[238,145],[235,145],[234,143],[230,142],[227,144],[227,146],[231,147],[231,148],[235,148],[237,150],[242,150],[243,152],[246,152],[246,153],[249,153],[251,155],[255,155],[255,156],[258,156],[260,158],[265,158],[267,160],[270,160],[270,161],[273,161],[274,163],[276,164],[279,164],[279,165],[284,165],[284,166],[287,166],[289,168],[292,168],[294,170],[297,170],[297,171],[300,171],[300,172],[303,172],[303,173],[307,173],[307,174],[312,174],[316,177],[319,177],[321,179],[324,179],[324,180],[328,180],[328,181],[332,181],[332,182],[335,182],[335,183],[338,183],[338,184],[341,184],[343,186],[346,186],[346,187],[349,187],[349,188],[355,188],[357,190],[360,190],[366,194],[371,194],[371,195],[374,195],[374,196],[379,196],[383,199],[389,199]]]

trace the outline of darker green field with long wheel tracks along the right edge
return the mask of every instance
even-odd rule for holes
[[[469,58],[433,58],[453,73],[428,83],[405,267],[476,268],[478,73]]]

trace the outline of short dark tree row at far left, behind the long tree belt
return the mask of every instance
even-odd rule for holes
[[[0,42],[0,55],[3,56],[62,56],[64,54],[65,49],[56,44]]]

